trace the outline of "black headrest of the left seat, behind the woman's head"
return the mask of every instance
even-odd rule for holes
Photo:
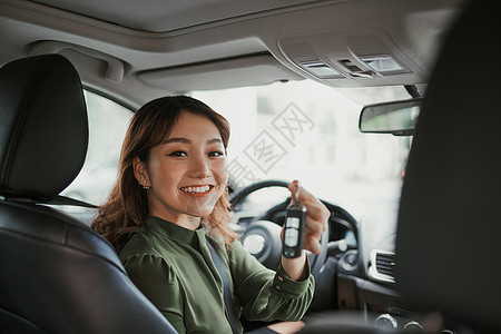
[[[0,69],[0,195],[50,200],[80,171],[88,145],[80,78],[58,55]]]

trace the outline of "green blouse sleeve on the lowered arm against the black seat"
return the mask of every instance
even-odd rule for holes
[[[164,314],[178,333],[186,333],[181,287],[173,268],[158,256],[134,255],[124,266],[132,283]]]

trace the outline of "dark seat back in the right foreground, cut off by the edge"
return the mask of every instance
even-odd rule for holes
[[[396,282],[414,305],[501,328],[501,20],[472,1],[450,30],[402,189]]]

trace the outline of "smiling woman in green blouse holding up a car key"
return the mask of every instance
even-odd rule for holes
[[[92,223],[179,333],[240,333],[240,315],[298,321],[313,297],[304,252],[282,257],[275,273],[228,227],[228,138],[227,120],[196,99],[146,104],[128,128],[117,185]],[[330,213],[304,189],[299,199],[307,208],[304,249],[320,253]]]

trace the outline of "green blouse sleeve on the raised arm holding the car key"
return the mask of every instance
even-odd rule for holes
[[[273,272],[244,249],[240,242],[232,244],[230,267],[235,294],[243,305],[243,315],[249,321],[298,321],[307,311],[315,287],[308,278],[291,279],[282,266]]]

